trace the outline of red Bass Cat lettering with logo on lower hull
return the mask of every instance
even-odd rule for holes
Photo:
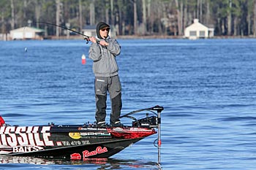
[[[96,150],[93,151],[89,151],[89,150],[84,150],[83,151],[83,159],[89,158],[90,156],[93,155],[98,155],[104,152],[108,152],[108,148],[107,147],[97,147]],[[82,157],[80,155],[80,153],[73,153],[70,155],[70,159],[73,160],[80,160]]]

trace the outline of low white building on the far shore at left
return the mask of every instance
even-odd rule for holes
[[[44,30],[33,27],[21,27],[10,31],[10,38],[13,39],[43,39]]]

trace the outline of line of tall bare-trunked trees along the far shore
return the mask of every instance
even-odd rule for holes
[[[105,21],[117,35],[183,36],[197,18],[217,36],[256,37],[256,0],[0,0],[0,32],[28,26],[64,35]]]

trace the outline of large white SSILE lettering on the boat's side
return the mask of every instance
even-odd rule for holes
[[[16,146],[54,146],[49,139],[50,126],[7,126],[0,128],[0,145]]]

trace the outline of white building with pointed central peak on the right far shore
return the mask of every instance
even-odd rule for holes
[[[208,28],[195,19],[192,25],[185,28],[184,36],[188,39],[211,38],[214,36],[214,28]]]

